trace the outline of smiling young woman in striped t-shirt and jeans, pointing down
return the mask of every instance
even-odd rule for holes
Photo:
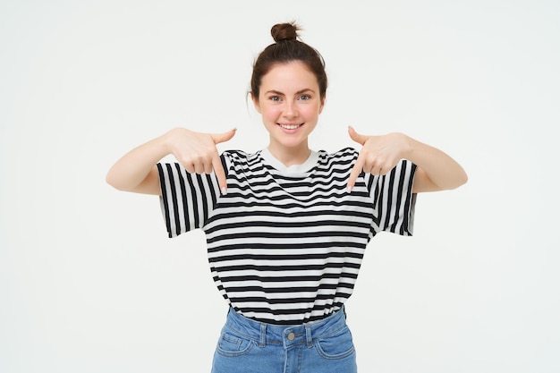
[[[313,151],[308,137],[325,105],[321,55],[293,23],[253,66],[250,95],[270,134],[267,148],[218,154],[235,131],[176,128],[132,149],[106,181],[160,196],[170,237],[202,229],[208,261],[230,310],[214,373],[356,372],[344,301],[377,233],[412,234],[416,193],[454,189],[454,159],[402,133],[365,136],[360,150]],[[160,160],[172,154],[177,163]]]

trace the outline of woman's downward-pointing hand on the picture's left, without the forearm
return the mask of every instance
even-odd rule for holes
[[[216,145],[231,140],[235,129],[224,133],[202,133],[175,128],[165,134],[169,153],[173,154],[191,174],[216,174],[220,190],[225,194],[227,182]]]

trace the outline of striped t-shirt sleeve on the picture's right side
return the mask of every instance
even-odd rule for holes
[[[388,174],[365,174],[369,195],[373,199],[373,235],[379,232],[412,235],[416,204],[416,194],[412,193],[415,172],[416,165],[403,159]]]

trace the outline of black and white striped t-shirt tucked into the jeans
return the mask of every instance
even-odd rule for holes
[[[369,240],[412,234],[416,166],[403,160],[384,176],[346,183],[353,148],[312,152],[286,167],[265,149],[222,154],[227,194],[215,174],[159,163],[169,237],[206,233],[214,282],[236,312],[276,325],[327,317],[352,294]]]

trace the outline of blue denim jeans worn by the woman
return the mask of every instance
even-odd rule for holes
[[[276,326],[230,308],[212,373],[356,373],[344,309],[319,321]]]

